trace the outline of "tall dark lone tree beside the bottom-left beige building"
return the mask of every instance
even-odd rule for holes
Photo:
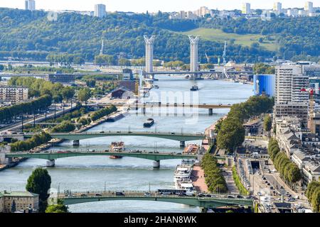
[[[51,185],[51,177],[48,174],[48,170],[41,167],[33,170],[26,184],[26,190],[28,192],[36,193],[39,195],[39,212],[44,213],[48,206],[48,193]]]

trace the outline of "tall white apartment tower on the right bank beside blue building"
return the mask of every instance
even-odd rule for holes
[[[307,126],[309,112],[309,77],[302,65],[279,65],[275,70],[274,117],[298,117]]]

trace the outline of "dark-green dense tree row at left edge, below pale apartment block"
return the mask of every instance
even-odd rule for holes
[[[0,108],[0,122],[11,121],[16,116],[21,114],[36,114],[40,111],[45,111],[52,103],[50,95],[45,94],[38,99],[34,99],[30,102],[16,104],[14,106],[1,107]]]

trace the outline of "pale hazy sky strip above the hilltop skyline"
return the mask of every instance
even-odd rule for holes
[[[276,0],[274,0],[276,1]],[[69,9],[94,11],[95,4],[107,5],[107,11],[156,12],[194,11],[200,6],[209,9],[241,9],[242,2],[249,2],[252,9],[272,9],[272,0],[36,0],[36,9]],[[282,8],[303,7],[304,0],[277,0]],[[320,6],[320,0],[314,0],[314,7]],[[24,8],[24,0],[0,0],[0,7]]]

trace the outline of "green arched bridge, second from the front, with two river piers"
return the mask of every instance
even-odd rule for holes
[[[120,156],[120,157],[137,157],[146,160],[154,161],[154,168],[160,167],[160,160],[172,160],[172,159],[197,159],[197,155],[188,154],[175,154],[175,153],[142,153],[142,152],[110,152],[110,151],[92,151],[92,152],[80,152],[80,151],[66,151],[63,153],[57,152],[44,152],[44,153],[6,153],[6,157],[27,157],[27,158],[37,158],[48,160],[47,166],[53,167],[55,165],[55,160],[65,157],[80,157],[80,156]],[[221,157],[223,158],[223,157]]]

